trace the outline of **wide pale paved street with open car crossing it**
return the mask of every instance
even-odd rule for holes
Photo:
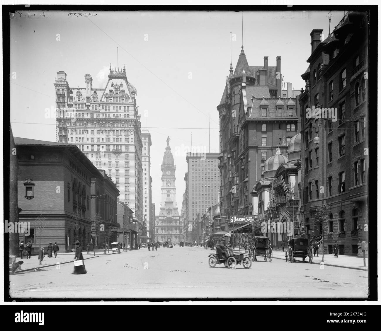
[[[73,275],[73,264],[10,275],[17,298],[365,298],[368,273],[318,264],[264,262],[210,268],[198,247],[140,249],[85,260],[87,274]],[[85,256],[86,257],[86,256]],[[315,278],[315,279],[314,279]],[[320,280],[319,280],[320,279]]]

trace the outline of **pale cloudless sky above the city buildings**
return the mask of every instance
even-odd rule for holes
[[[55,107],[56,72],[65,71],[72,87],[84,87],[84,76],[90,74],[93,88],[103,88],[109,63],[117,66],[118,47],[119,67],[125,64],[127,79],[138,91],[142,128],[147,126],[151,133],[156,214],[168,135],[181,209],[187,163],[186,155],[176,151],[191,145],[191,133],[192,146],[208,149],[208,113],[211,152],[219,148],[216,106],[229,74],[230,32],[237,38],[232,42],[233,68],[240,54],[242,12],[90,11],[97,14],[91,18],[69,17],[64,11],[46,11],[45,16],[29,11],[29,17],[21,13],[22,17],[16,14],[11,20],[13,135],[55,141],[55,119],[46,119],[45,109]],[[269,56],[269,66],[275,66],[276,57],[281,56],[283,82],[293,83],[294,89],[304,88],[300,75],[311,54],[309,34],[312,29],[324,29],[327,37],[327,15],[328,11],[245,12],[243,45],[249,66],[263,65],[264,56]],[[343,11],[332,15],[331,31]]]

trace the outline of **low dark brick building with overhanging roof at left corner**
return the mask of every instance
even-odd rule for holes
[[[19,162],[19,220],[30,222],[28,237],[34,247],[57,241],[61,251],[70,251],[75,240],[82,245],[91,238],[91,220],[100,215],[103,224],[119,228],[119,191],[110,177],[99,171],[77,146],[60,142],[14,138]],[[75,224],[74,214],[80,222]],[[43,231],[37,217],[45,217]],[[98,233],[96,244],[116,240],[117,233]],[[38,250],[38,249],[37,249]]]

